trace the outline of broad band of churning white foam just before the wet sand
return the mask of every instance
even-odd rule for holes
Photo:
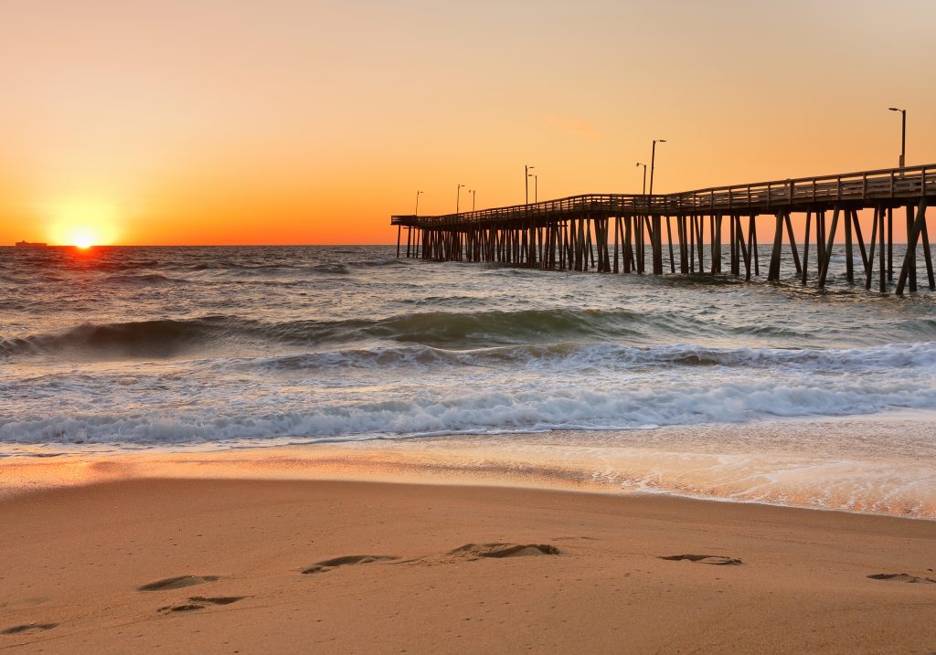
[[[104,378],[66,376],[49,381],[45,398],[15,409],[5,402],[0,441],[177,444],[276,436],[635,429],[936,408],[929,371],[876,378],[707,367],[624,377],[591,373],[481,371],[430,376],[421,385],[403,380],[379,386],[322,386],[317,380],[277,378],[262,383],[183,379],[168,389],[158,374],[155,379],[138,374],[111,380],[103,405],[91,396]],[[36,382],[31,386],[35,393]]]

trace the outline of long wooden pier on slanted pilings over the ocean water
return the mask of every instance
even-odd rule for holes
[[[678,194],[570,196],[441,216],[395,215],[391,224],[398,226],[398,257],[405,228],[407,257],[605,273],[662,275],[665,269],[680,274],[729,273],[743,274],[747,280],[759,277],[764,269],[768,282],[781,279],[785,236],[800,284],[812,279],[823,288],[833,249],[843,248],[846,280],[870,289],[876,268],[878,288],[886,293],[894,276],[894,210],[902,209],[907,250],[899,263],[896,288],[902,294],[907,287],[917,288],[918,248],[923,251],[929,288],[936,289],[926,221],[927,206],[934,201],[936,164],[930,164]],[[867,236],[858,223],[859,210],[874,211]],[[755,224],[762,215],[775,221],[773,248],[763,264]],[[805,224],[801,247],[794,234],[795,221]],[[840,229],[841,245],[835,243]],[[811,240],[814,271],[808,269]],[[856,252],[861,255],[858,265]]]

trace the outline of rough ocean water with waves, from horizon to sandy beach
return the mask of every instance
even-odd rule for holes
[[[792,272],[583,274],[385,246],[3,248],[0,470],[341,447],[936,519],[933,295],[880,296],[835,271],[820,292]]]

